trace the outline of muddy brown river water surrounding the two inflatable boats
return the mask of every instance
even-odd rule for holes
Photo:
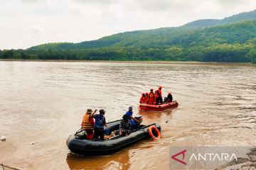
[[[142,92],[164,86],[179,106],[139,111]],[[134,106],[161,139],[98,157],[70,154],[65,140],[87,108],[107,121]],[[168,121],[167,121],[168,120]],[[0,162],[23,169],[169,169],[174,145],[256,145],[256,66],[141,62],[0,62]],[[33,143],[33,145],[32,145]]]

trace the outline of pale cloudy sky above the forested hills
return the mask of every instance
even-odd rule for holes
[[[0,50],[96,40],[255,9],[255,0],[0,0]]]

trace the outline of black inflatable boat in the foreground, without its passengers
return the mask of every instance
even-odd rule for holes
[[[110,132],[119,129],[119,123],[121,120],[107,123],[108,129],[105,129],[106,135],[110,135]],[[75,154],[93,155],[93,154],[111,154],[112,152],[127,147],[134,142],[138,142],[144,138],[150,137],[148,129],[150,126],[155,126],[159,131],[161,127],[159,125],[139,125],[136,130],[128,136],[115,136],[104,141],[95,141],[85,139],[85,132],[76,132],[75,135],[70,135],[66,144],[71,152]]]

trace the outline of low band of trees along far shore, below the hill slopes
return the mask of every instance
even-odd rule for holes
[[[212,45],[210,47],[104,47],[84,50],[0,50],[1,59],[17,60],[143,60],[256,63],[256,47],[247,45]]]

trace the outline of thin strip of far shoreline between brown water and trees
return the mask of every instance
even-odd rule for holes
[[[238,64],[256,65],[251,62],[194,62],[194,61],[133,61],[133,60],[21,60],[21,59],[0,59],[0,62],[117,62],[117,63],[145,63],[145,64]]]

